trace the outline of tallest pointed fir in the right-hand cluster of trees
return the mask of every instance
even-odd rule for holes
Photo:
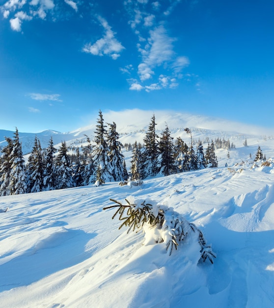
[[[155,115],[152,116],[144,138],[145,145],[145,177],[155,176],[159,172],[157,158],[159,155],[158,135],[156,134]]]

